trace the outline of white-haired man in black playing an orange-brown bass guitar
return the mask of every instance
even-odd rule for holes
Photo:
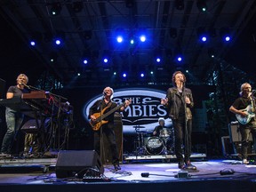
[[[99,119],[99,115],[101,114],[100,111],[104,111],[103,114],[108,113],[113,108],[117,107],[117,104],[112,100],[113,98],[113,89],[111,87],[106,87],[103,90],[103,99],[97,100],[92,107],[89,110],[89,116],[92,121],[96,121],[96,119]],[[117,111],[123,111],[124,108],[127,108],[130,105],[129,100],[124,101],[124,105],[117,109]],[[97,115],[97,116],[96,116]],[[103,138],[103,135],[106,136],[107,141],[110,144],[110,149],[112,152],[112,164],[114,165],[115,170],[121,170],[121,167],[119,166],[119,158],[118,158],[118,152],[116,148],[116,136],[114,132],[114,112],[110,114],[109,116],[106,116],[102,121],[100,121],[100,129],[94,130],[94,149],[97,151],[99,155],[102,155],[100,153],[100,138]],[[102,145],[103,148],[103,145]]]

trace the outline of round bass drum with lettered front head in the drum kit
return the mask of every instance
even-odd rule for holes
[[[149,155],[159,155],[164,149],[163,140],[158,137],[150,137],[146,141],[146,151]]]

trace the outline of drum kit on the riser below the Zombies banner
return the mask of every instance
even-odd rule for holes
[[[174,153],[174,132],[173,129],[163,128],[159,137],[152,136],[152,132],[140,131],[144,126],[133,126],[136,131],[135,151],[136,156],[157,156],[171,155]]]

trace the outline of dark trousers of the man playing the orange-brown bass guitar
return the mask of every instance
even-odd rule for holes
[[[100,128],[100,129],[102,129],[102,128]],[[94,149],[95,149],[95,151],[99,154],[99,156],[103,156],[103,154],[105,153],[103,137],[106,138],[109,143],[109,147],[110,147],[111,153],[112,153],[112,164],[119,164],[119,158],[118,158],[118,153],[117,153],[117,148],[116,148],[116,136],[115,136],[115,132],[113,129],[108,128],[108,127],[103,127],[101,137],[100,137],[100,130],[97,132],[94,132]],[[100,138],[101,138],[101,143],[102,143],[102,151],[101,151],[102,154],[100,154]]]

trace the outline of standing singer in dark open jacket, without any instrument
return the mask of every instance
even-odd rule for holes
[[[191,164],[191,133],[192,133],[192,112],[194,107],[192,92],[185,87],[186,76],[181,71],[172,75],[173,87],[166,92],[166,97],[161,104],[167,110],[172,119],[174,129],[175,155],[178,160],[178,167],[182,170],[196,170]],[[184,157],[182,151],[184,146]]]

